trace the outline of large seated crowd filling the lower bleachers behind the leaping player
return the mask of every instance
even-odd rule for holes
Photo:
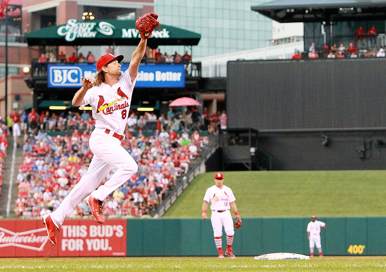
[[[88,146],[90,135],[88,130],[80,133],[77,129],[71,136],[51,137],[40,130],[36,135],[25,134],[24,159],[17,175],[16,216],[42,216],[58,207],[90,164],[93,156]],[[125,136],[122,146],[136,160],[139,170],[108,196],[104,203],[107,216],[149,214],[173,189],[177,177],[188,172],[208,141],[197,130],[189,135],[186,131],[178,134],[161,129],[145,137],[140,129],[137,137],[132,137],[126,129]],[[90,208],[84,200],[70,216],[88,215]]]

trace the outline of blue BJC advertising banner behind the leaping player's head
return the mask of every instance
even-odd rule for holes
[[[129,64],[122,64],[122,72]],[[80,88],[82,76],[94,78],[95,64],[48,64],[49,88]],[[185,88],[184,64],[141,64],[139,65],[137,88]]]

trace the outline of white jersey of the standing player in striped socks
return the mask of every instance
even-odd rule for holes
[[[210,204],[210,209],[213,211],[226,210],[230,209],[229,203],[232,203],[236,200],[232,189],[228,186],[223,185],[222,188],[218,188],[216,185],[213,185],[207,189],[205,192],[204,200],[212,202]]]

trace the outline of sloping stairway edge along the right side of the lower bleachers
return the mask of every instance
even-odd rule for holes
[[[220,147],[218,136],[210,135],[209,143],[200,150],[200,156],[196,158],[195,163],[189,167],[188,173],[178,177],[176,186],[169,192],[164,201],[157,206],[150,215],[154,218],[161,217],[176,201],[182,191],[189,185],[189,183],[199,174],[205,173],[205,162],[216,152]]]

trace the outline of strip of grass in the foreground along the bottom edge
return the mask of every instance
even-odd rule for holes
[[[1,260],[0,271],[386,271],[386,260],[381,258],[361,259],[312,259],[312,260],[253,260],[253,257],[234,260],[217,258],[81,258],[49,260],[22,259]]]

